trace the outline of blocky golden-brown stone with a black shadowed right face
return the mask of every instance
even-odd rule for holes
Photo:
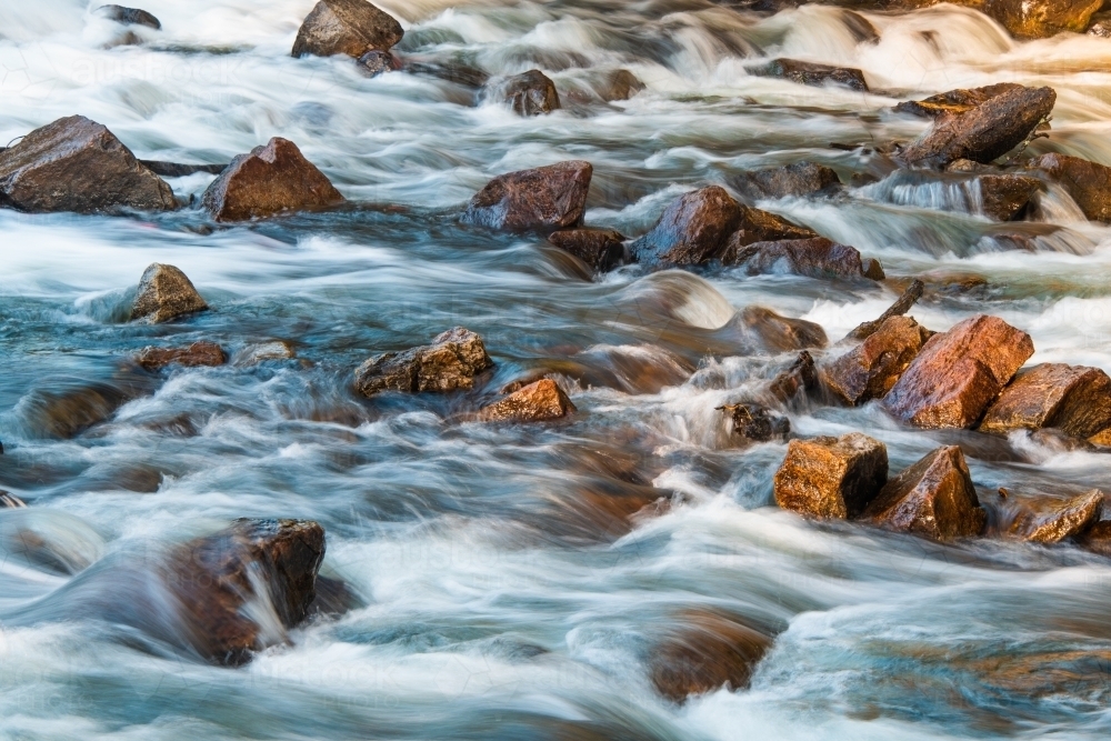
[[[844,520],[864,511],[888,480],[888,449],[859,432],[792,440],[775,472],[775,503],[815,518]]]

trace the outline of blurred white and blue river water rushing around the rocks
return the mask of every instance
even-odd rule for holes
[[[540,239],[454,214],[494,174],[565,159],[594,167],[587,222],[628,236],[741,170],[807,159],[844,182],[882,177],[881,158],[829,143],[913,139],[928,120],[890,112],[895,102],[1001,81],[1058,92],[1051,136],[1030,151],[1111,163],[1111,41],[1019,43],[948,6],[862,13],[877,39],[818,6],[379,4],[406,27],[401,52],[494,74],[541,68],[564,110],[522,119],[432,78],[292,59],[313,0],[144,0],[163,30],[117,47],[119,27],[84,0],[0,0],[0,144],[73,113],[144,159],[227,162],[281,136],[356,203],[214,230],[198,209],[0,210],[0,485],[29,503],[0,511],[0,737],[1108,738],[1108,561],[808,523],[771,498],[785,445],[738,448],[715,408],[791,359],[731,344],[722,328],[737,311],[769,307],[837,340],[911,277],[927,279],[913,316],[930,329],[991,313],[1031,334],[1031,363],[1111,371],[1111,231],[1055,190],[1027,221],[997,224],[969,213],[968,193],[897,174],[841,199],[760,204],[879,258],[885,283],[637,267],[590,281]],[[858,67],[873,92],[744,71],[784,56]],[[647,90],[592,97],[619,68]],[[169,182],[188,199],[211,179]],[[156,261],[214,310],[124,323]],[[970,276],[987,283],[945,290]],[[498,363],[490,389],[578,369],[564,381],[579,413],[489,425],[460,413],[492,392],[353,395],[368,357],[460,324]],[[288,340],[298,360],[164,381],[124,364],[146,344],[199,339],[233,356]],[[90,387],[130,401],[56,434],[51,399]],[[913,431],[875,404],[801,410],[791,424],[879,438],[893,470],[960,442],[990,507],[1001,485],[1111,487],[1104,455]],[[322,572],[364,607],[239,669],[158,644],[144,627],[159,615],[132,601],[144,564],[240,517],[319,521]],[[775,637],[750,689],[683,705],[654,692],[652,647],[692,609]]]

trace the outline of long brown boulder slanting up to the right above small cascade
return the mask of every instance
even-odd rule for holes
[[[1052,88],[1008,90],[963,113],[943,116],[900,157],[911,164],[943,167],[954,160],[991,162],[1021,144],[1053,110]]]

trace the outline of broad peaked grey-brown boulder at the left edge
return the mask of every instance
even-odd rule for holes
[[[58,119],[0,150],[0,206],[44,213],[168,211],[170,187],[106,127],[83,116]]]

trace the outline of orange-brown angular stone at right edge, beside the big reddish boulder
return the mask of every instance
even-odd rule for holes
[[[1111,427],[1111,378],[1099,368],[1042,363],[1019,375],[988,409],[981,432],[1057,428],[1090,438]]]

